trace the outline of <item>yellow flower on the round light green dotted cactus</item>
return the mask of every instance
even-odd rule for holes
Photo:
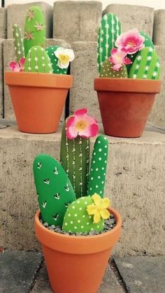
[[[99,223],[101,218],[103,220],[108,219],[110,213],[107,208],[110,206],[110,200],[107,197],[101,199],[101,196],[96,193],[92,195],[92,199],[94,203],[87,206],[87,213],[88,215],[94,215],[94,224]]]

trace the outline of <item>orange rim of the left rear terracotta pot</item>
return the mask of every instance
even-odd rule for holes
[[[5,83],[9,86],[70,89],[73,76],[55,73],[6,71]]]

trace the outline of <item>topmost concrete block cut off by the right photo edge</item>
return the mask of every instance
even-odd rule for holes
[[[153,42],[155,45],[165,45],[165,9],[155,10]]]

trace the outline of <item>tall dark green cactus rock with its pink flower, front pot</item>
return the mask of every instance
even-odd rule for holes
[[[60,162],[66,171],[76,198],[87,196],[89,178],[89,137],[98,132],[96,120],[79,109],[66,119],[62,129]]]

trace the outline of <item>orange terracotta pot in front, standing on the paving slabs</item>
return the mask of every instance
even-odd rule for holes
[[[43,227],[35,216],[36,237],[42,244],[50,285],[55,293],[96,293],[113,246],[120,238],[122,220],[110,208],[117,225],[96,236],[68,236]]]

